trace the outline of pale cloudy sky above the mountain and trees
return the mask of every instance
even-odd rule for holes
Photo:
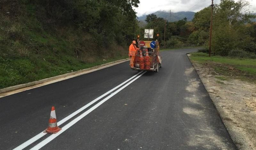
[[[256,0],[247,0],[251,3],[250,11],[256,12]],[[213,0],[220,4],[220,0]],[[150,14],[159,10],[172,12],[192,11],[197,12],[212,4],[211,0],[140,0],[138,8],[134,8],[137,16]]]

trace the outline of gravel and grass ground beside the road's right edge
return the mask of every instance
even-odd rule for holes
[[[238,149],[256,149],[256,60],[188,56]]]

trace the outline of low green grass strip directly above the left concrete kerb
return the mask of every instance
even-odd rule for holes
[[[73,65],[69,63],[53,65],[47,61],[36,62],[36,64],[34,64],[30,59],[6,60],[5,63],[0,64],[0,70],[2,70],[0,73],[0,89],[38,81],[125,58],[126,57],[119,57],[108,59],[106,61],[99,59],[92,63],[83,63],[77,61],[77,63]],[[75,62],[75,60],[72,62]]]

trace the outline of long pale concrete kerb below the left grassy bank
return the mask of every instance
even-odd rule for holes
[[[91,67],[91,68],[86,68],[86,69],[83,69],[83,70],[79,70],[79,71],[75,71],[75,72],[71,72],[71,73],[67,73],[67,74],[63,74],[63,75],[53,76],[53,77],[42,79],[42,80],[39,80],[39,81],[34,81],[34,82],[30,82],[30,83],[24,83],[24,84],[20,84],[20,85],[7,87],[7,88],[4,88],[4,89],[0,89],[0,93],[14,91],[14,90],[18,90],[18,89],[21,89],[21,88],[26,88],[26,87],[34,86],[34,85],[37,85],[37,84],[46,83],[46,82],[50,82],[50,81],[57,80],[57,79],[60,79],[60,78],[68,77],[68,76],[71,76],[71,75],[85,73],[85,72],[90,71],[92,69],[97,69],[97,68],[100,68],[100,67],[108,66],[110,64],[119,64],[119,63],[122,63],[122,62],[125,62],[125,61],[128,61],[128,60],[129,60],[129,58],[116,60],[116,61],[112,61],[112,62],[102,64],[102,65],[99,65],[99,66],[94,66],[94,67]]]

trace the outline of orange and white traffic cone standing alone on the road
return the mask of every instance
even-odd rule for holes
[[[57,125],[57,119],[56,119],[56,114],[55,114],[55,107],[52,106],[51,110],[51,115],[49,119],[49,125],[48,128],[44,131],[44,133],[57,133],[61,130],[61,128],[58,127]]]

